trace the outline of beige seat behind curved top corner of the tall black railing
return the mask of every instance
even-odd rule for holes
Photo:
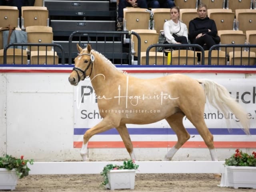
[[[137,29],[132,31],[140,35],[141,52],[146,52],[148,46],[158,43],[159,34],[156,32],[156,30]],[[135,51],[134,56],[138,56],[138,39],[134,35],[132,35],[131,39],[132,39],[132,42],[134,42],[134,51]],[[155,50],[156,48],[152,48],[150,51],[155,52]]]

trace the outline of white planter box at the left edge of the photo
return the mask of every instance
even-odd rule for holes
[[[0,168],[0,190],[14,190],[18,182],[16,171]]]

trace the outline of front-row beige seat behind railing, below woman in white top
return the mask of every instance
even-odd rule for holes
[[[168,52],[170,65],[196,65],[198,61],[196,53],[192,50],[174,50]]]

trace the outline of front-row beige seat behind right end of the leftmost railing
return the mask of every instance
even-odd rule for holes
[[[30,52],[30,64],[48,64],[48,65],[49,64],[58,64],[57,52],[54,52],[54,51],[31,51]]]

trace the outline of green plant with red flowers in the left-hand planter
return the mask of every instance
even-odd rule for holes
[[[4,157],[0,157],[0,168],[6,168],[8,170],[15,169],[18,178],[28,176],[30,169],[27,163],[33,164],[34,160],[24,160],[23,158],[24,156],[15,158],[6,154]]]

